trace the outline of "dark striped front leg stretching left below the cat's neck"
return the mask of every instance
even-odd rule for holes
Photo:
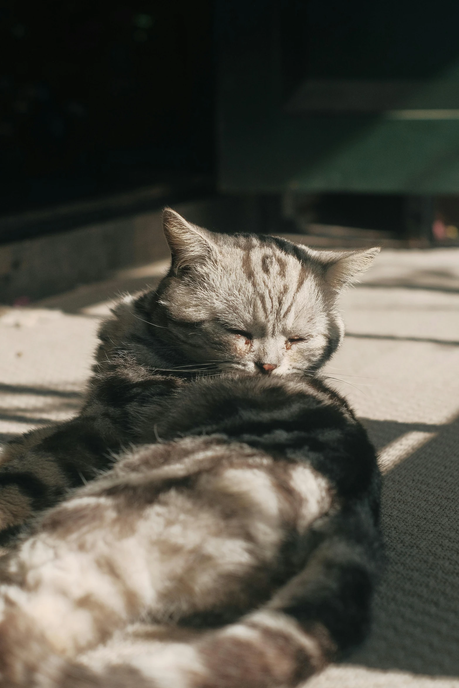
[[[181,384],[180,378],[134,374],[129,367],[96,375],[80,416],[8,442],[0,455],[0,548],[10,546],[37,513],[107,470],[114,453],[138,442],[143,416],[152,424]]]

